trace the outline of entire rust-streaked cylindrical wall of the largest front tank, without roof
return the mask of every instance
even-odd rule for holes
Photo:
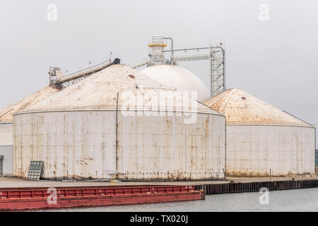
[[[223,179],[225,117],[197,116],[195,124],[184,124],[175,113],[168,117],[123,116],[114,110],[16,114],[14,176],[28,177],[30,161],[42,160],[45,179],[114,179],[116,172],[124,180]]]

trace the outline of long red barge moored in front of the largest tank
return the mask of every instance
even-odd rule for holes
[[[205,199],[194,186],[98,186],[0,189],[0,210],[131,205]]]

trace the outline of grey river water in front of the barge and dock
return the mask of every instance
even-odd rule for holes
[[[264,194],[263,194],[264,195]],[[175,203],[155,203],[134,206],[109,206],[94,208],[69,208],[45,211],[318,211],[318,189],[269,191],[268,204],[260,204],[262,194],[239,193],[206,195],[206,200]],[[262,196],[264,197],[264,196]]]

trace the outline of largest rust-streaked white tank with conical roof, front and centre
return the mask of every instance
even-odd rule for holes
[[[45,179],[223,179],[224,115],[178,93],[103,69],[14,115],[14,175],[40,160]]]

